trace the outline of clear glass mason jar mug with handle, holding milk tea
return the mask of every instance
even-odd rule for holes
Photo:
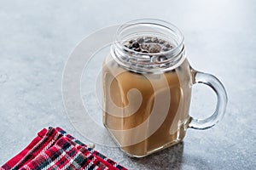
[[[135,51],[129,39],[158,37],[173,48]],[[143,157],[182,141],[188,127],[206,129],[224,115],[227,95],[212,75],[195,71],[185,57],[183,35],[162,20],[134,20],[119,27],[103,63],[103,123],[129,156]],[[160,59],[161,56],[165,59]],[[216,111],[205,120],[189,116],[191,89],[204,83],[217,94]]]

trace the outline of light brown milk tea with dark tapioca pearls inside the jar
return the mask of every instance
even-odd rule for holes
[[[137,40],[124,42],[124,46],[143,54],[159,54],[173,48],[171,43],[155,37],[137,37]],[[168,56],[158,55],[155,62],[165,59]],[[172,71],[147,76],[138,72],[136,66],[134,68],[127,69],[119,65],[112,54],[106,57],[102,72],[103,123],[121,150],[130,156],[142,157],[183,139],[190,121],[192,80],[187,59]],[[137,89],[141,99],[129,96],[132,89]],[[155,99],[160,100],[157,105]],[[127,106],[128,109],[122,110]],[[119,110],[114,109],[115,107]],[[165,112],[163,108],[167,108]],[[132,113],[127,114],[129,111]],[[160,122],[157,117],[150,119],[153,112],[163,121]],[[155,126],[156,124],[159,126]],[[115,133],[116,131],[124,133]]]

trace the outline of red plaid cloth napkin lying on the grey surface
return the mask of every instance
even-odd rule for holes
[[[60,127],[49,127],[41,130],[24,150],[0,167],[0,170],[9,169],[126,168],[74,139]]]

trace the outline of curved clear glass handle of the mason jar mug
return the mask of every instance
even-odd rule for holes
[[[192,78],[193,84],[206,84],[212,88],[217,95],[217,105],[212,116],[209,116],[206,119],[195,119],[194,117],[191,117],[189,127],[204,130],[213,127],[224,116],[228,97],[223,84],[218,80],[217,77],[204,72],[192,70]]]

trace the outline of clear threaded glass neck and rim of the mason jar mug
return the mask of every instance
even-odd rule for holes
[[[119,26],[111,54],[130,71],[172,71],[185,59],[183,34],[163,20],[132,20]]]

